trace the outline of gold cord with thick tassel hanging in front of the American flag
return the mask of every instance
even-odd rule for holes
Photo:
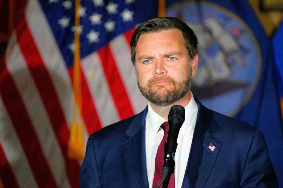
[[[68,141],[68,157],[73,159],[83,159],[85,157],[85,146],[82,128],[82,94],[81,94],[81,68],[80,68],[80,41],[79,41],[79,7],[80,0],[75,0],[75,50],[74,50],[74,101],[73,114],[70,128],[70,138]]]

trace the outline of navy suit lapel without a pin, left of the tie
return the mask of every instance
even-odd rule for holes
[[[120,145],[127,187],[148,187],[146,171],[145,119],[147,108],[137,114],[125,131],[129,139]]]

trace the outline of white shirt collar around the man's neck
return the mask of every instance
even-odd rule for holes
[[[183,123],[180,132],[184,135],[189,136],[190,131],[196,125],[196,117],[198,114],[198,104],[193,98],[193,94],[191,92],[191,100],[185,107],[185,122]],[[146,116],[146,128],[148,128],[151,136],[155,136],[160,129],[160,125],[164,123],[166,120],[158,115],[148,103],[148,111]]]

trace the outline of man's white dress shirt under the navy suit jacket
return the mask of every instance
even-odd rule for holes
[[[177,149],[175,153],[175,188],[182,186],[187,162],[190,154],[190,148],[193,140],[193,132],[196,125],[198,105],[193,99],[185,107],[185,122],[183,123],[177,139]],[[154,177],[155,156],[157,148],[163,138],[164,131],[160,128],[165,122],[164,118],[153,111],[148,103],[148,112],[146,115],[146,167],[148,174],[149,187],[152,188]],[[155,187],[154,187],[155,188]]]

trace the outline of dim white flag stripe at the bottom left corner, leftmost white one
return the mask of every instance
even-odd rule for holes
[[[0,144],[20,187],[37,187],[28,160],[0,96]],[[4,181],[4,180],[2,180]]]

